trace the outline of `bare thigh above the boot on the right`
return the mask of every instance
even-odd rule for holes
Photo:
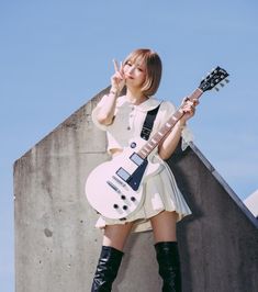
[[[164,211],[150,218],[155,243],[177,242],[177,213]]]

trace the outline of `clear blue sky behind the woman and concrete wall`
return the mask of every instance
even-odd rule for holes
[[[220,65],[231,82],[201,98],[194,143],[245,199],[258,188],[258,2],[0,2],[0,283],[14,291],[13,162],[105,88],[112,59],[157,50],[157,97],[179,105]]]

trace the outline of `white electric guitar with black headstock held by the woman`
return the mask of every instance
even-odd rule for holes
[[[204,91],[213,89],[227,76],[226,70],[216,67],[201,81],[189,100],[199,99]],[[218,90],[216,87],[215,89]],[[86,195],[97,212],[106,218],[125,220],[141,209],[144,202],[144,181],[160,171],[160,164],[152,162],[154,149],[183,114],[179,108],[147,142],[141,137],[132,139],[128,147],[125,147],[120,155],[91,171],[86,181]]]

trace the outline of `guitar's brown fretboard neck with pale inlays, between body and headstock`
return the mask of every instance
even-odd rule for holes
[[[202,96],[203,91],[197,88],[188,99],[193,101]],[[139,149],[137,153],[142,158],[147,158],[147,156],[159,145],[159,143],[168,135],[171,128],[177,124],[177,122],[184,115],[182,111],[182,105],[168,119],[168,121],[161,126],[161,128],[156,132],[152,138]]]

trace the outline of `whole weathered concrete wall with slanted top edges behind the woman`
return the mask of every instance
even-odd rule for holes
[[[14,164],[16,292],[90,291],[101,232],[83,187],[108,158],[90,119],[103,92]],[[169,165],[193,211],[178,225],[183,291],[258,291],[257,221],[194,145]],[[113,291],[160,291],[157,270],[152,233],[133,234]]]

